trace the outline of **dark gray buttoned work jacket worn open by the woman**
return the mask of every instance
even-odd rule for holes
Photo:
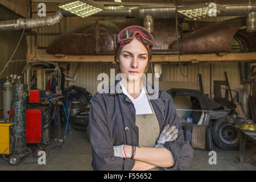
[[[118,81],[115,81],[116,85]],[[130,171],[134,159],[114,156],[113,146],[121,144],[138,146],[138,127],[135,125],[135,108],[129,97],[123,93],[96,93],[91,100],[89,114],[89,138],[92,145],[92,167],[94,170]],[[172,152],[175,165],[160,170],[185,170],[193,157],[193,148],[184,141],[180,119],[170,94],[159,88],[159,96],[151,100],[160,131],[167,123],[179,130],[174,142],[164,147]]]

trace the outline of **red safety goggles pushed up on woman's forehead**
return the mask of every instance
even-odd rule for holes
[[[146,30],[146,28],[143,28],[141,26],[130,26],[125,29],[123,29],[118,35],[117,35],[117,44],[119,44],[119,47],[123,47],[126,44],[129,44],[134,38],[137,36],[137,38],[141,39],[142,42],[147,46],[147,48],[152,48],[153,46],[153,36]]]

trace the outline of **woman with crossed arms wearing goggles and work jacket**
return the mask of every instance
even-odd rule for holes
[[[94,170],[184,170],[191,163],[193,149],[184,141],[172,97],[159,88],[158,97],[150,100],[143,84],[152,46],[152,35],[140,26],[127,27],[117,36],[114,57],[125,79],[91,100]],[[121,92],[111,92],[118,86]]]

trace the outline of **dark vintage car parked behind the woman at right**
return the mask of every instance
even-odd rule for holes
[[[210,129],[205,131],[205,149],[212,150],[213,140],[224,150],[238,150],[240,133],[234,127],[236,119],[233,118],[232,109],[210,100],[200,90],[173,88],[167,93],[172,96],[181,121],[189,121],[182,122],[185,140],[191,143],[195,125],[206,125]]]

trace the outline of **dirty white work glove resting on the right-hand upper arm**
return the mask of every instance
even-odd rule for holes
[[[167,124],[160,133],[155,147],[164,147],[164,143],[176,140],[178,132],[179,130],[176,129],[176,126],[170,127],[170,125]]]

